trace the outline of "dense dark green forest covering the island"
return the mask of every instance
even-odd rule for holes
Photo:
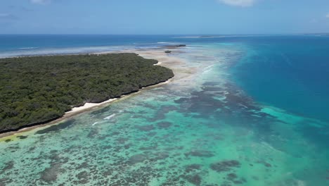
[[[45,123],[73,106],[99,103],[174,74],[137,54],[0,59],[0,132]]]

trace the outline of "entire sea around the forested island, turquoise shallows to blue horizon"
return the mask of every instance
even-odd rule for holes
[[[0,139],[0,185],[329,185],[328,36],[0,35],[0,58],[172,44],[190,77]]]

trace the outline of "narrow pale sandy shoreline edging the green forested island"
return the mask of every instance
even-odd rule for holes
[[[163,59],[164,57],[169,58],[169,61],[170,61],[170,58],[172,58],[173,61],[176,61],[176,60],[182,61],[181,58],[167,56],[165,54],[160,55],[160,52],[161,51],[162,50],[155,50],[154,51],[154,50],[151,50],[151,49],[150,50],[147,50],[147,51],[124,50],[124,51],[116,51],[116,52],[108,51],[108,52],[93,53],[93,54],[99,54],[99,55],[101,55],[101,54],[112,54],[112,53],[119,54],[119,53],[132,52],[132,53],[141,55],[144,58],[153,58],[154,57],[154,59],[158,61],[156,64],[154,64],[155,66],[162,66],[165,63],[165,60]],[[164,66],[164,67],[169,68],[168,66]],[[157,83],[155,85],[149,85],[148,87],[142,87],[141,89],[138,89],[137,92],[131,92],[129,94],[124,94],[121,97],[108,99],[108,100],[105,100],[105,101],[103,101],[101,103],[86,103],[86,104],[84,104],[84,106],[73,107],[70,111],[65,112],[65,114],[62,117],[57,118],[55,120],[46,121],[45,123],[41,123],[41,124],[35,124],[35,125],[30,126],[30,127],[27,126],[26,128],[23,127],[21,129],[15,130],[15,131],[9,131],[9,132],[0,133],[0,140],[3,139],[3,138],[5,138],[5,137],[11,137],[11,136],[20,135],[23,132],[28,132],[30,130],[34,130],[34,129],[37,129],[37,128],[43,128],[43,127],[47,127],[47,126],[50,126],[50,125],[57,125],[57,124],[65,121],[65,120],[70,119],[70,118],[72,118],[74,116],[77,116],[79,114],[86,113],[88,111],[93,111],[93,110],[96,110],[96,109],[99,109],[99,108],[103,108],[105,106],[108,106],[108,105],[112,104],[115,101],[121,101],[121,100],[123,100],[123,99],[125,99],[127,97],[131,97],[131,96],[133,96],[135,94],[140,93],[141,91],[143,91],[145,89],[153,89],[155,87],[166,85],[169,82],[172,82],[173,79],[176,76],[175,70],[172,69],[172,68],[170,68],[170,69],[173,70],[174,77],[170,78],[169,80],[167,80],[165,82],[159,82],[159,83]]]

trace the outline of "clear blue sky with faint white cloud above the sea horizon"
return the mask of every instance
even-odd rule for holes
[[[329,32],[329,0],[0,0],[0,34]]]

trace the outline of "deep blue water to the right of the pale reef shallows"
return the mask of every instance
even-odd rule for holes
[[[233,68],[257,101],[329,121],[329,37],[252,37]]]

